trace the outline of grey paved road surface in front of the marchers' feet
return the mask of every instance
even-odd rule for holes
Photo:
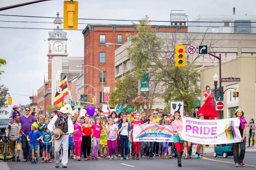
[[[245,167],[240,167],[243,170],[253,170],[256,169],[256,152],[246,152],[245,154]],[[3,169],[3,162],[0,162],[0,170]],[[54,163],[41,163],[34,165],[29,162],[11,162],[7,161],[8,166],[11,170],[52,170],[57,168],[54,167]],[[203,159],[183,159],[182,157],[182,167],[177,167],[177,159],[162,159],[160,157],[154,157],[153,160],[148,160],[146,158],[141,158],[140,160],[108,160],[106,158],[101,158],[98,161],[75,161],[75,159],[68,160],[68,169],[95,169],[95,170],[233,170],[234,168],[239,169],[239,167],[234,166],[233,157],[223,158],[218,156],[213,157],[213,153],[207,153]],[[58,169],[62,169],[61,166]],[[6,170],[4,168],[3,170]]]

